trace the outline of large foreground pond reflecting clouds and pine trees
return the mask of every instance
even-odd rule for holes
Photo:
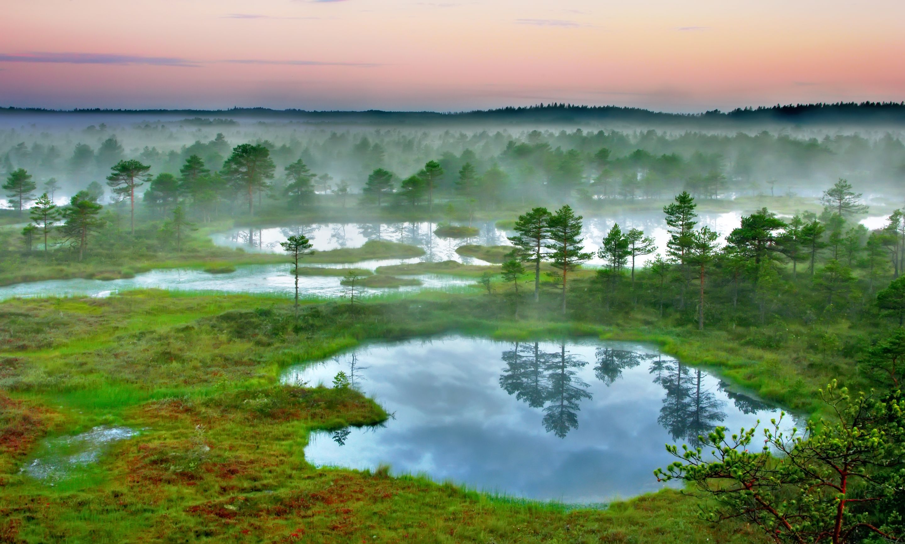
[[[409,340],[291,367],[282,379],[330,384],[340,370],[393,417],[312,434],[310,463],[388,463],[394,474],[537,500],[656,491],[653,470],[673,461],[663,444],[779,416],[707,372],[623,342]]]

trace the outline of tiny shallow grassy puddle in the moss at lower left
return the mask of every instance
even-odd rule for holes
[[[138,434],[129,427],[94,427],[87,433],[59,436],[43,441],[43,456],[26,464],[22,472],[36,480],[56,482],[72,471],[96,463],[110,445]]]

